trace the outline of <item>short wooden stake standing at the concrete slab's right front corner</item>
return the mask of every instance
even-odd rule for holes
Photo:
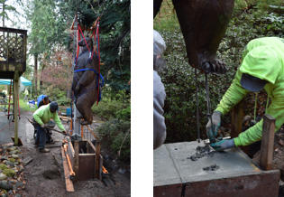
[[[263,117],[261,139],[261,169],[270,170],[273,159],[275,118],[268,114]]]

